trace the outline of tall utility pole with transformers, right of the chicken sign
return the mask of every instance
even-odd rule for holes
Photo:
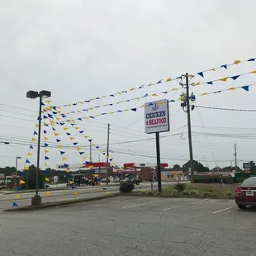
[[[189,82],[188,82],[188,73],[184,75],[186,78],[186,95],[182,94],[184,99],[182,99],[181,107],[183,107],[183,111],[187,112],[187,134],[188,134],[188,147],[189,147],[189,159],[190,159],[190,165],[191,165],[191,180],[192,183],[194,182],[194,161],[193,161],[193,149],[192,149],[192,132],[191,132],[191,118],[190,118],[190,111],[194,109],[194,105],[192,105],[192,108],[190,109],[190,100],[195,101],[196,97],[192,94],[192,96],[189,95]],[[183,87],[183,83],[180,83]]]

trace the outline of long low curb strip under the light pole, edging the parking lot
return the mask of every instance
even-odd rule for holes
[[[75,203],[83,202],[83,201],[96,201],[96,200],[102,200],[109,197],[118,197],[121,193],[111,194],[111,195],[104,195],[100,197],[92,197],[92,198],[80,198],[76,200],[67,200],[67,201],[55,201],[55,202],[47,202],[44,204],[41,204],[40,206],[21,206],[18,208],[11,208],[11,209],[5,209],[2,212],[13,212],[13,211],[34,211],[34,210],[42,210],[45,208],[53,208],[58,206],[68,206]]]

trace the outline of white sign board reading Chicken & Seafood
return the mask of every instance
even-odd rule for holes
[[[169,130],[168,100],[145,103],[145,133]]]

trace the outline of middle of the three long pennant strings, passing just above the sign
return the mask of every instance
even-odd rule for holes
[[[204,82],[204,83],[201,83],[201,82],[197,82],[197,83],[192,83],[193,86],[198,86],[198,85],[202,85],[202,84],[214,84],[218,81],[220,82],[227,82],[229,79],[235,81],[237,78],[241,77],[241,76],[244,76],[244,75],[248,75],[250,73],[256,73],[256,70],[253,70],[253,71],[250,71],[250,72],[247,72],[247,73],[239,73],[239,74],[236,74],[236,75],[233,75],[233,76],[230,76],[230,77],[225,77],[225,78],[218,78],[218,79],[215,79],[215,80],[212,80],[212,81],[209,81],[209,82]],[[140,96],[140,97],[132,97],[130,99],[126,99],[126,100],[123,100],[123,101],[120,101],[120,102],[111,102],[111,103],[108,103],[108,104],[103,104],[103,105],[97,105],[97,106],[94,106],[94,107],[88,107],[88,108],[84,108],[82,110],[77,110],[77,111],[69,111],[69,112],[64,112],[64,115],[70,115],[70,114],[75,114],[75,113],[82,113],[83,111],[92,111],[92,110],[95,110],[97,108],[100,108],[100,107],[110,107],[110,106],[114,106],[114,105],[119,105],[123,102],[132,102],[132,101],[140,101],[140,99],[143,99],[145,97],[159,97],[159,95],[163,94],[163,95],[167,95],[168,92],[173,92],[173,91],[176,91],[178,92],[179,88],[171,88],[170,90],[168,91],[163,91],[163,92],[155,92],[155,93],[146,93],[144,94],[143,96]],[[174,100],[175,101],[175,100]],[[50,103],[50,101],[47,101]],[[53,112],[55,113],[55,115],[57,116],[60,116],[63,115],[62,113],[62,108],[61,107],[56,107],[56,106],[53,106],[53,107],[44,107],[43,108],[43,111],[47,111],[47,110],[50,110],[53,109]]]

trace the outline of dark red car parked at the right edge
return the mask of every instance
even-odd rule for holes
[[[235,202],[239,209],[256,206],[256,177],[247,178],[235,189]]]

